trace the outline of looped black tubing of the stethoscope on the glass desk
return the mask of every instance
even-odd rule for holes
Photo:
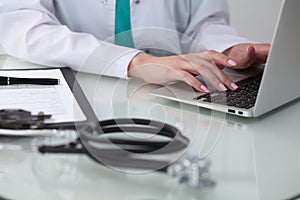
[[[51,128],[51,125],[46,128]],[[106,166],[166,172],[169,162],[144,157],[177,153],[189,144],[189,139],[174,126],[147,119],[111,119],[100,121],[99,124],[75,124],[68,128],[77,129],[76,141],[57,146],[43,145],[39,151],[80,153]],[[135,137],[128,133],[139,133],[142,136]],[[116,134],[118,137],[114,137]],[[151,137],[159,139],[151,141]]]

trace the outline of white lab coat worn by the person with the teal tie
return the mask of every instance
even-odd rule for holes
[[[1,0],[0,43],[8,54],[34,63],[127,77],[137,49],[222,52],[249,42],[228,25],[226,0],[132,0],[136,49],[120,47],[113,44],[115,1]]]

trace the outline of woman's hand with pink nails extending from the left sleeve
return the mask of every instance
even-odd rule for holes
[[[194,75],[201,75],[219,91],[226,91],[227,88],[236,90],[237,85],[220,69],[234,66],[235,61],[212,50],[167,57],[139,53],[129,64],[128,75],[156,84],[181,80],[196,90],[207,93],[208,88]]]

